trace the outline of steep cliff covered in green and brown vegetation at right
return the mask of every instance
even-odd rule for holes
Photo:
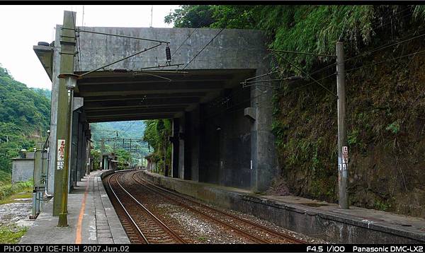
[[[423,37],[414,39],[424,34],[424,6],[209,6],[194,16],[197,8],[181,6],[166,21],[177,27],[261,29],[270,49],[335,54],[336,42],[344,42],[351,204],[425,217],[425,45]],[[200,22],[200,15],[208,22]],[[193,17],[196,22],[189,22]],[[336,93],[331,64],[332,57],[271,57],[280,76],[314,73]],[[275,186],[335,202],[334,95],[311,78],[280,83],[273,107],[280,165]]]

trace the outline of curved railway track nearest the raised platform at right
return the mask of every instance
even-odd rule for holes
[[[149,192],[159,194],[160,196],[178,204],[179,206],[188,208],[190,211],[193,211],[193,213],[197,213],[200,216],[212,220],[213,223],[221,225],[222,227],[227,228],[230,231],[234,231],[234,233],[242,235],[242,237],[246,237],[252,242],[276,243],[283,241],[287,243],[306,243],[305,241],[299,240],[293,236],[279,233],[275,230],[271,230],[270,228],[266,228],[263,225],[259,225],[258,223],[254,223],[250,220],[234,216],[231,213],[227,213],[217,208],[207,206],[198,201],[188,199],[188,197],[182,196],[181,194],[177,194],[162,187],[158,187],[157,185],[152,184],[151,182],[148,182],[147,180],[143,179],[140,175],[140,172],[131,173],[132,180],[147,189]],[[265,240],[264,237],[259,237],[259,232],[261,232],[261,235],[266,235],[265,237],[267,237],[268,240]]]

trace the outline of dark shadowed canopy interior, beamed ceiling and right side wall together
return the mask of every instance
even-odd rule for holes
[[[78,113],[88,123],[170,119],[171,177],[249,189],[251,90],[240,82],[254,73],[116,69],[84,76],[74,95],[83,98]]]

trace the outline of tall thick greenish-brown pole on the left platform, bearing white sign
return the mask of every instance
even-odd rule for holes
[[[66,227],[69,170],[69,130],[72,117],[72,86],[77,84],[74,78],[74,52],[76,45],[76,13],[64,11],[64,23],[60,30],[60,80],[57,107],[57,155],[55,158],[55,198],[53,199],[53,216],[59,216],[58,227]]]

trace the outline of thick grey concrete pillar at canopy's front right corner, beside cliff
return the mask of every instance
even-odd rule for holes
[[[264,65],[266,66],[266,65]],[[267,69],[257,69],[256,76],[267,73]],[[271,86],[271,83],[266,83]],[[251,87],[251,107],[255,117],[251,126],[251,190],[264,192],[278,172],[275,136],[271,133],[273,119],[272,88]]]

